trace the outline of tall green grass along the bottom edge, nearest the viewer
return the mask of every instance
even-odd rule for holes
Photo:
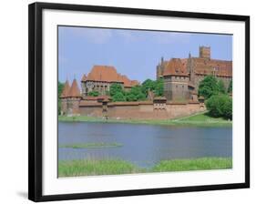
[[[84,159],[58,162],[58,177],[117,175],[131,173],[188,171],[232,168],[231,158],[193,158],[162,160],[152,168],[138,168],[121,159]]]

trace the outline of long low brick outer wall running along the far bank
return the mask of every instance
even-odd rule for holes
[[[108,103],[107,112],[100,103],[80,106],[80,115],[90,117],[105,117],[119,119],[164,119],[185,117],[204,111],[200,103],[173,104],[167,103],[158,108],[153,102],[112,102]]]

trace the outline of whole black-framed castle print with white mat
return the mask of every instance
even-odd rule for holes
[[[250,187],[250,17],[29,5],[29,199]]]

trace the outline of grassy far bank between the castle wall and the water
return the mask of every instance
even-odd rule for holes
[[[232,121],[222,117],[210,117],[207,113],[200,113],[189,117],[179,117],[176,119],[115,119],[101,117],[64,117],[59,116],[59,121],[66,122],[104,122],[104,123],[129,123],[129,124],[148,124],[166,126],[194,126],[194,127],[231,127]]]

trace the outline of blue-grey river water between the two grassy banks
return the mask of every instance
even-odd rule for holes
[[[232,128],[58,122],[58,145],[120,143],[118,148],[59,148],[58,158],[121,158],[151,167],[169,158],[231,157]]]

